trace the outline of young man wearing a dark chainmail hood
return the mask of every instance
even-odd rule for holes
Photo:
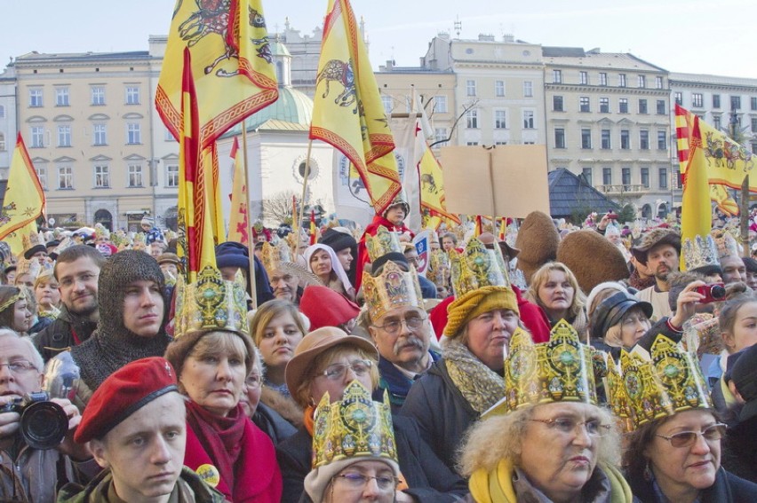
[[[100,322],[92,337],[71,350],[79,365],[84,389],[77,395],[86,404],[92,392],[111,373],[139,358],[163,356],[165,334],[163,272],[145,252],[124,250],[100,271]]]

